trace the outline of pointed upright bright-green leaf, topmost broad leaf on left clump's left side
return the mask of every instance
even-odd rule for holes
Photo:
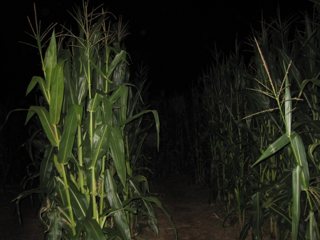
[[[52,31],[51,39],[49,46],[45,52],[45,57],[44,57],[44,73],[45,73],[45,82],[46,82],[46,87],[45,89],[49,91],[50,86],[51,86],[51,77],[52,77],[52,72],[53,69],[56,66],[57,58],[56,58],[56,41],[55,41],[55,35],[54,35],[54,30]],[[49,99],[50,101],[50,99]]]

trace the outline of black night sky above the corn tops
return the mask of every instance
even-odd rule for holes
[[[29,31],[26,16],[33,17],[33,2],[1,3],[2,39],[6,43],[2,47],[1,68],[5,77],[0,99],[10,94],[23,96],[32,75],[40,70],[37,50],[18,42],[32,42],[24,31]],[[50,22],[69,21],[67,10],[81,2],[35,0],[42,29]],[[269,19],[275,16],[278,5],[283,17],[311,9],[313,5],[309,0],[89,0],[89,5],[98,6],[102,2],[104,8],[128,21],[130,35],[125,45],[132,64],[143,60],[149,66],[149,80],[157,91],[186,89],[201,69],[210,64],[214,43],[228,53],[234,49],[236,35],[243,41],[251,26],[259,29],[262,9],[263,16]],[[244,44],[243,48],[248,46]]]

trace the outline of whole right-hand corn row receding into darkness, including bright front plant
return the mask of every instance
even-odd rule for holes
[[[276,239],[320,237],[319,12],[262,22],[249,62],[237,43],[215,50],[188,93],[152,101],[163,124],[148,167],[208,184],[240,239],[266,225]]]

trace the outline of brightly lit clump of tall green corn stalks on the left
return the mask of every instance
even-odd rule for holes
[[[27,87],[26,94],[37,85],[41,95],[26,122],[40,123],[31,138],[41,158],[40,184],[15,200],[40,194],[39,216],[49,239],[132,239],[145,226],[135,224],[137,213],[158,233],[151,203],[171,218],[157,198],[147,196],[148,181],[134,169],[144,140],[142,116],[153,114],[157,139],[159,120],[155,110],[137,107],[143,82],[137,90],[129,82],[122,23],[111,26],[107,12],[89,12],[84,2],[71,14],[78,34],[67,28],[56,34],[54,25],[40,34],[36,14],[31,25],[43,77],[33,76]]]

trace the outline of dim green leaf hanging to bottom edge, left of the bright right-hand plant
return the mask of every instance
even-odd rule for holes
[[[252,196],[252,239],[262,239],[262,222],[263,222],[263,211],[261,208],[261,192],[256,192]]]

